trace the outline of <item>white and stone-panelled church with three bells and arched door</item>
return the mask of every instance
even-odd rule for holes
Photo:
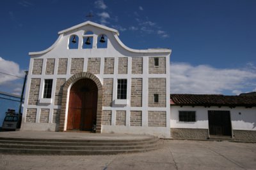
[[[170,49],[134,50],[118,31],[84,22],[29,52],[21,131],[170,138]]]

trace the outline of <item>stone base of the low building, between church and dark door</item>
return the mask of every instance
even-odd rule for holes
[[[171,128],[171,137],[179,139],[207,139],[208,129]]]

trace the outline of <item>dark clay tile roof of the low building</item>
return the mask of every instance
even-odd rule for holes
[[[170,104],[178,106],[256,106],[256,96],[224,96],[217,94],[171,94]]]

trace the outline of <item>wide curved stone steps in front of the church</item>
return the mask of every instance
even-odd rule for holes
[[[147,152],[159,148],[159,138],[145,139],[31,139],[0,138],[0,153],[30,155],[107,155]]]

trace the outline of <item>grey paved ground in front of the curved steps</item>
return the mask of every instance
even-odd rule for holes
[[[256,169],[256,144],[161,140],[163,148],[121,155],[0,155],[0,169]]]

